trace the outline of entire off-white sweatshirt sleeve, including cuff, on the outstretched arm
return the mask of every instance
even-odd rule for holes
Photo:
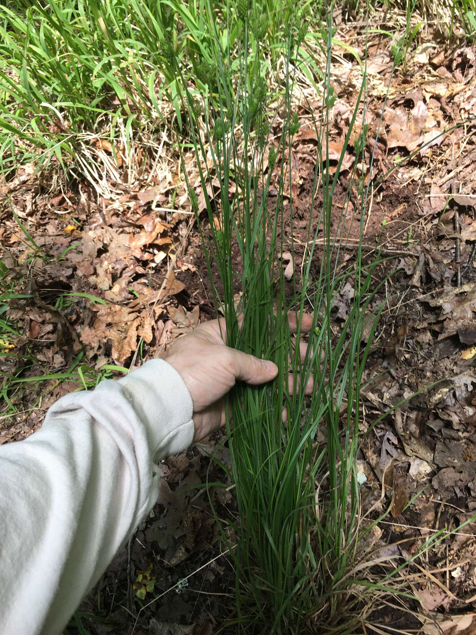
[[[178,372],[153,359],[59,399],[0,447],[0,634],[58,635],[155,504],[155,463],[194,436]]]

